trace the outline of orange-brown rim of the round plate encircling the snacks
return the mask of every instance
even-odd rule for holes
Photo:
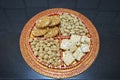
[[[82,22],[87,27],[91,35],[91,48],[90,48],[90,52],[83,57],[83,59],[80,61],[78,65],[65,69],[52,69],[40,64],[38,59],[33,55],[29,45],[29,38],[30,38],[31,30],[38,18],[45,15],[59,14],[59,13],[73,14],[82,20]],[[78,13],[70,9],[54,8],[38,13],[26,23],[20,36],[20,49],[22,56],[27,62],[27,64],[36,72],[54,78],[67,78],[80,74],[83,71],[85,71],[88,67],[90,67],[90,65],[93,63],[93,61],[95,60],[98,54],[99,36],[92,22],[88,18],[83,16],[81,13]]]

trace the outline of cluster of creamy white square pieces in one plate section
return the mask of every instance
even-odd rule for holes
[[[73,61],[80,61],[86,52],[90,51],[90,38],[87,36],[71,35],[70,39],[63,39],[60,48],[63,52],[62,60],[66,65]]]

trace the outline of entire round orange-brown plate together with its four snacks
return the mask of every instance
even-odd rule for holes
[[[82,73],[94,62],[99,36],[92,22],[81,13],[64,8],[48,9],[26,23],[20,36],[20,50],[36,72],[68,78]]]

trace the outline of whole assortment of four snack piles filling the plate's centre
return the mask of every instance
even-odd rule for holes
[[[31,34],[33,54],[50,68],[72,66],[90,52],[89,32],[73,14],[43,16],[36,21]]]

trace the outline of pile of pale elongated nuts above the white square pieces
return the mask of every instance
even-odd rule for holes
[[[72,34],[76,34],[84,36],[88,33],[88,30],[86,29],[82,21],[74,15],[64,13],[60,15],[60,19],[60,31],[62,35],[70,36]]]

